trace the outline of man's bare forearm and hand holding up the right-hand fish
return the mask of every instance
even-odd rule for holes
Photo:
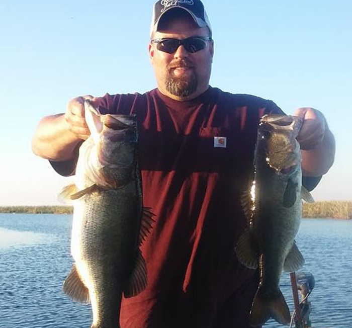
[[[335,157],[335,139],[324,115],[313,108],[299,108],[295,116],[303,118],[297,140],[302,150],[302,173],[319,177],[331,168]]]

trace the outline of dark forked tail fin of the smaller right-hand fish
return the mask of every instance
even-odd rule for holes
[[[291,322],[290,309],[281,290],[278,289],[277,292],[268,295],[259,286],[250,311],[250,324],[252,326],[262,325],[271,317],[282,324]]]

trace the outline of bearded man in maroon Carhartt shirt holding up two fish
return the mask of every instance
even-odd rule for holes
[[[248,187],[259,118],[282,113],[272,101],[209,86],[214,54],[200,0],[154,5],[149,56],[157,89],[106,94],[94,104],[135,113],[144,206],[156,222],[142,245],[145,291],[124,299],[122,328],[249,327],[257,272],[235,255],[246,226],[240,197]],[[77,150],[90,132],[83,99],[64,114],[43,118],[33,151],[61,175],[74,173]],[[323,115],[300,108],[303,183],[313,189],[331,167],[334,138]]]

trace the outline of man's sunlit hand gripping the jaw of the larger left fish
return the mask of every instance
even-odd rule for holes
[[[68,124],[68,129],[79,139],[87,139],[91,132],[85,122],[84,117],[84,100],[94,100],[93,96],[76,97],[67,104],[64,118]]]

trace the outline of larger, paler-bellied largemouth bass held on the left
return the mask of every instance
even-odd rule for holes
[[[116,328],[122,293],[131,297],[146,287],[139,245],[153,219],[142,207],[135,116],[102,115],[88,100],[84,108],[91,135],[79,148],[74,185],[60,196],[74,205],[74,265],[63,290],[92,303],[92,328]]]

